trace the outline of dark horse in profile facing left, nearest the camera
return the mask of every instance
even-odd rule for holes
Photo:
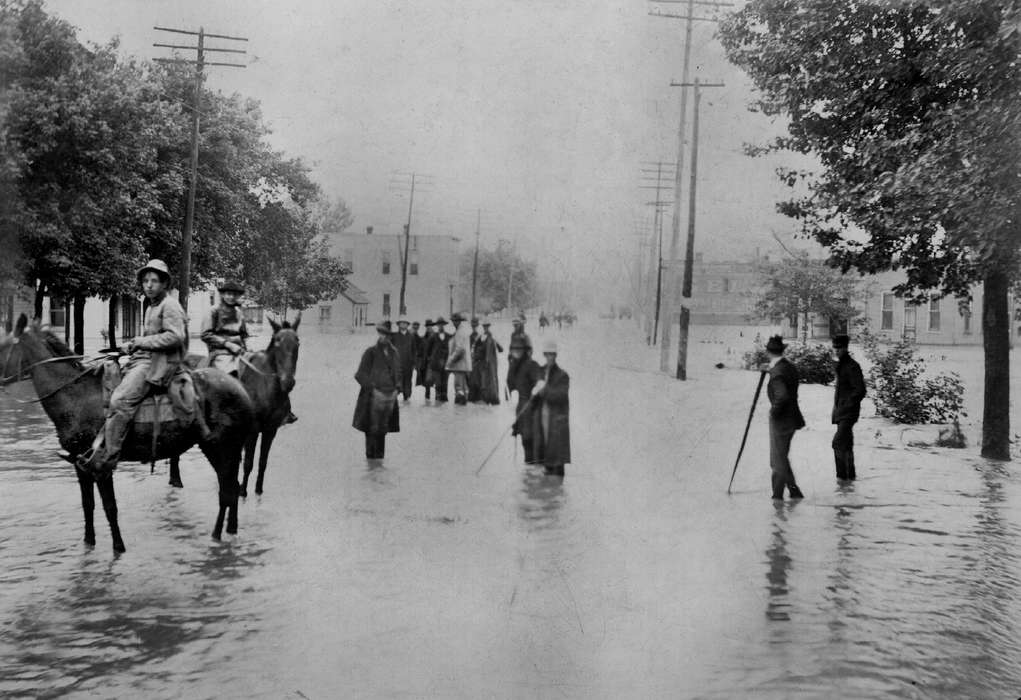
[[[42,330],[38,321],[29,326],[25,314],[17,319],[14,331],[0,340],[0,383],[6,385],[32,377],[36,394],[46,414],[57,429],[60,446],[74,461],[92,444],[103,430],[104,410],[102,378],[94,368],[83,365],[56,336]],[[152,427],[134,424],[125,440],[121,461],[149,461],[153,458],[176,457],[196,443],[212,464],[220,481],[220,512],[212,537],[220,539],[227,515],[227,533],[238,532],[238,469],[241,450],[254,419],[251,399],[233,377],[218,369],[193,372],[201,397],[200,410],[209,427],[210,437],[201,440],[197,426],[162,423],[152,454]],[[113,549],[125,551],[117,526],[117,503],[113,493],[113,477],[96,479],[77,469],[82,490],[82,510],[85,514],[85,542],[96,544],[92,513],[95,509],[93,486],[102,498],[103,510],[110,523]]]

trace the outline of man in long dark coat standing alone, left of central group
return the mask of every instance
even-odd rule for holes
[[[354,379],[360,387],[351,426],[366,434],[366,457],[383,459],[386,434],[400,432],[400,358],[390,343],[390,321],[377,323],[376,344],[361,354]]]

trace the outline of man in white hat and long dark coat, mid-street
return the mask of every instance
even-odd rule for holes
[[[534,456],[536,462],[546,467],[546,473],[563,477],[564,465],[571,462],[571,403],[568,400],[571,378],[556,364],[554,341],[543,343],[542,355],[546,365],[542,368],[542,378],[532,388],[535,398],[532,411]]]

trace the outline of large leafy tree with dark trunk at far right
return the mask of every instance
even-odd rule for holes
[[[730,59],[785,115],[752,152],[816,156],[781,169],[779,210],[897,292],[983,285],[982,454],[1010,458],[1008,288],[1021,262],[1021,6],[1011,0],[750,0],[721,24]],[[857,231],[856,231],[857,229]]]

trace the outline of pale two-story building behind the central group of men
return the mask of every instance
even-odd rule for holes
[[[407,316],[422,322],[427,317],[449,315],[460,284],[460,239],[453,236],[411,235],[407,241],[407,282],[404,299]],[[400,281],[404,261],[404,235],[364,233],[333,234],[330,252],[351,270],[348,289],[336,299],[317,305],[320,326],[351,328],[400,314]]]

